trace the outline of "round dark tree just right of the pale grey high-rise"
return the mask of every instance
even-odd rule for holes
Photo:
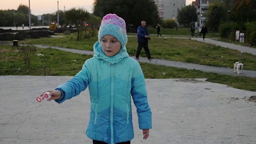
[[[197,21],[196,8],[194,6],[185,6],[178,10],[177,20],[180,25],[189,26],[190,22]]]

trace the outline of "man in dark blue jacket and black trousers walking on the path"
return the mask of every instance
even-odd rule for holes
[[[148,28],[146,27],[146,21],[144,20],[141,21],[141,26],[137,28],[137,34],[138,34],[138,38],[137,38],[138,48],[136,52],[136,59],[137,60],[140,59],[139,55],[143,47],[147,54],[148,60],[151,60],[153,57],[151,57],[150,51],[148,49],[148,40],[150,40],[150,38],[149,38]]]

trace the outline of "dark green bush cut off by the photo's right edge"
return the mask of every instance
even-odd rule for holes
[[[246,41],[251,45],[256,45],[256,21],[246,22]]]

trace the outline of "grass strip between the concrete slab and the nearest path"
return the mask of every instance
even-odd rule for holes
[[[31,49],[31,50],[30,50]],[[35,50],[35,51],[34,51]],[[0,75],[74,76],[92,55],[73,54],[52,48],[0,45]],[[38,56],[43,54],[44,56]],[[228,76],[199,70],[187,70],[140,63],[145,78],[208,78],[209,82],[256,92],[256,78]],[[166,73],[163,75],[163,73]]]

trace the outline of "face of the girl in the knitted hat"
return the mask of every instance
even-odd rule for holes
[[[104,54],[109,57],[116,55],[121,49],[121,43],[111,35],[103,36],[100,40],[100,44]]]

